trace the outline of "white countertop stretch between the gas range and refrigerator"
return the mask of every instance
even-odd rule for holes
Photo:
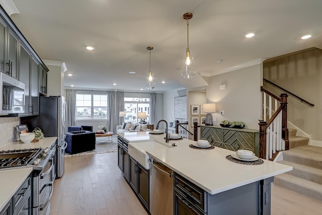
[[[30,148],[50,148],[51,145],[54,144],[57,137],[45,137],[43,139],[39,139],[39,142],[30,142],[29,144],[25,144],[24,142],[13,142],[12,144],[8,144],[0,148],[2,150],[18,150],[18,149],[30,149]]]

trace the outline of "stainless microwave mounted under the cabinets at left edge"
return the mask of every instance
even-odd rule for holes
[[[25,84],[0,72],[0,114],[25,112]]]

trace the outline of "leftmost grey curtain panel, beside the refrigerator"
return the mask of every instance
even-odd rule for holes
[[[76,125],[76,90],[66,90],[67,127]]]

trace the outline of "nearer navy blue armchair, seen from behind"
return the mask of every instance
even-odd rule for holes
[[[87,130],[66,132],[65,141],[67,148],[65,150],[68,154],[76,154],[95,150],[96,138],[95,132]]]

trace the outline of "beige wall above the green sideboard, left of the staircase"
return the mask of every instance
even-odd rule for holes
[[[214,124],[222,120],[244,121],[246,128],[259,129],[258,120],[262,118],[262,85],[263,64],[230,71],[209,78],[207,103],[216,103]],[[220,85],[226,89],[219,90]],[[220,115],[220,111],[225,112]]]

